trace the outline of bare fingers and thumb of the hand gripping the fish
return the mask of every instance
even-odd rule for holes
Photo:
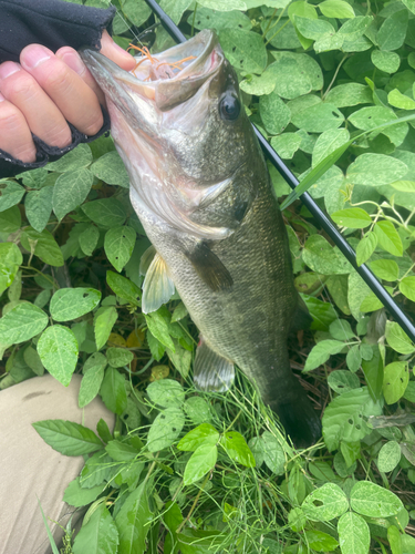
[[[104,31],[101,53],[131,71],[134,59]],[[0,64],[0,148],[24,163],[35,161],[31,133],[50,146],[71,144],[69,121],[86,135],[103,125],[102,91],[70,47],[54,54],[40,44],[25,47],[20,64]]]

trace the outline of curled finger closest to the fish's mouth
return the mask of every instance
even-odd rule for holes
[[[100,131],[104,123],[100,102],[79,74],[41,44],[30,44],[23,49],[20,61],[63,116],[79,131],[86,135]]]

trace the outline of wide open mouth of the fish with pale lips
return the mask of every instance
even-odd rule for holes
[[[142,104],[139,99],[158,112],[186,102],[218,73],[225,60],[211,30],[204,30],[187,42],[154,55],[144,51],[135,58],[137,65],[131,72],[93,50],[83,50],[80,54],[105,95],[122,112],[127,109],[129,115],[137,115],[132,104]]]

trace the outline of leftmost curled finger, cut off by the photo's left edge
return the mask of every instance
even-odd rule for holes
[[[0,94],[0,148],[24,163],[34,162],[37,148],[24,115]]]

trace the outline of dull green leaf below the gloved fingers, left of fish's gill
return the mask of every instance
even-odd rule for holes
[[[93,175],[84,167],[62,174],[53,187],[53,212],[62,219],[86,198],[93,183]]]

